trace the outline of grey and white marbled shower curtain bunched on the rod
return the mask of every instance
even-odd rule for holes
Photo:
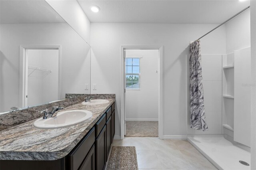
[[[204,90],[200,41],[190,43],[190,127],[195,130],[208,130],[204,113]]]

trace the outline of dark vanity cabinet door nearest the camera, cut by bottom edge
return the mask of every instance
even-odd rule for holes
[[[79,170],[95,170],[95,147],[92,146]]]

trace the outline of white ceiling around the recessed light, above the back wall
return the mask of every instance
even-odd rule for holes
[[[238,0],[78,0],[91,22],[218,24],[250,5]],[[100,12],[90,10],[91,5]]]

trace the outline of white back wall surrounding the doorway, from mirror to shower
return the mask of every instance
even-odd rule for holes
[[[91,23],[92,93],[116,93],[116,135],[120,135],[121,45],[163,45],[164,135],[187,134],[188,45],[217,24]],[[226,30],[201,40],[204,54],[226,53]]]

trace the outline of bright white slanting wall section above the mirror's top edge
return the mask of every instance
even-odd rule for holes
[[[90,20],[76,0],[46,0],[46,2],[90,44]]]

